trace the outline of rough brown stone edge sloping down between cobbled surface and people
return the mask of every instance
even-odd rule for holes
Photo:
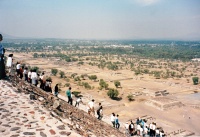
[[[58,99],[54,95],[19,79],[17,76],[12,76],[10,82],[12,86],[17,88],[17,92],[30,94],[30,99],[42,101],[45,108],[50,110],[50,114],[58,120],[69,119],[71,124],[68,123],[68,126],[82,136],[125,137],[124,133],[114,129],[111,125],[99,121],[85,111],[69,105],[66,101]],[[57,102],[58,100],[59,102]],[[62,122],[65,123],[64,120]]]

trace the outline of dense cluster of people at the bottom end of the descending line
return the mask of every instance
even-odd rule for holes
[[[137,118],[135,124],[133,121],[126,122],[125,124],[126,134],[129,136],[141,136],[141,137],[164,137],[164,131],[162,128],[156,127],[156,123],[152,122],[147,124],[146,119]]]

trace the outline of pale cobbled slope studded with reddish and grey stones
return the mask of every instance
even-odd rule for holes
[[[0,137],[81,137],[52,117],[38,100],[0,80]]]

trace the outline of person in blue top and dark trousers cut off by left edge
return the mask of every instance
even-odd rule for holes
[[[0,79],[4,79],[6,77],[6,70],[5,70],[5,64],[4,64],[5,49],[3,48],[3,45],[1,44],[2,40],[3,40],[3,36],[0,34]]]

